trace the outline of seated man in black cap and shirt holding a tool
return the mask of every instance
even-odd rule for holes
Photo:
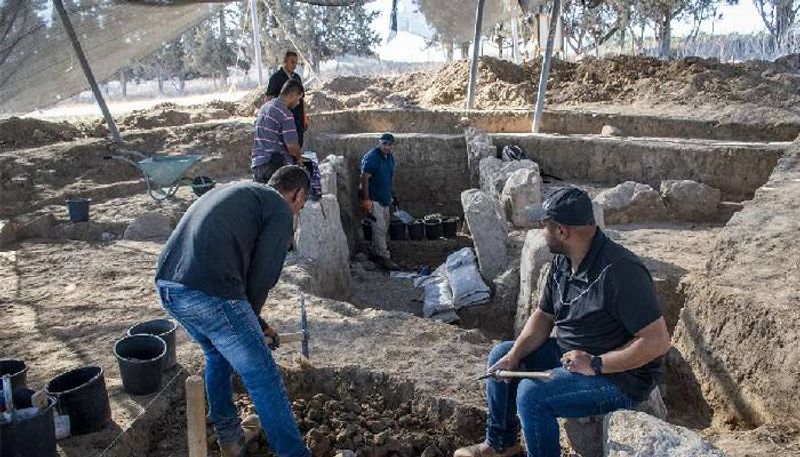
[[[556,254],[544,294],[516,341],[494,347],[487,374],[550,371],[547,380],[486,381],[486,440],[455,457],[512,456],[522,425],[529,456],[561,455],[557,417],[632,408],[661,376],[669,334],[647,268],[608,239],[589,195],[561,188],[531,211]],[[556,327],[556,337],[550,333]]]

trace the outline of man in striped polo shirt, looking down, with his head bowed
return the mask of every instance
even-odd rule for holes
[[[302,153],[291,110],[302,97],[303,85],[290,79],[281,88],[280,96],[265,103],[258,112],[250,164],[254,181],[266,184],[278,168],[301,163]]]

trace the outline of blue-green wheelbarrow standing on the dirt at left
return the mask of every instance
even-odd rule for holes
[[[119,154],[104,156],[105,160],[120,160],[138,168],[147,182],[147,193],[155,201],[172,198],[178,187],[191,183],[192,190],[198,197],[211,190],[216,183],[206,176],[196,178],[186,174],[203,156],[196,154],[164,155],[148,157],[141,152],[130,149],[119,149]]]

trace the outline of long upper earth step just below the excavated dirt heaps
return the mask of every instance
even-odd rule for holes
[[[489,133],[528,133],[533,111],[529,110],[399,110],[362,109],[313,114],[312,131],[320,133],[394,132],[461,133],[472,125]],[[597,134],[613,125],[627,136],[663,138],[706,138],[736,141],[792,141],[800,124],[744,124],[628,116],[584,111],[546,110],[541,131],[564,135]]]

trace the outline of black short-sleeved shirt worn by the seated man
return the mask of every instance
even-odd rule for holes
[[[661,317],[653,279],[636,254],[597,229],[573,275],[569,258],[551,264],[539,309],[554,317],[556,340],[565,351],[602,355],[619,349]],[[637,401],[661,378],[663,357],[633,370],[603,374]]]

